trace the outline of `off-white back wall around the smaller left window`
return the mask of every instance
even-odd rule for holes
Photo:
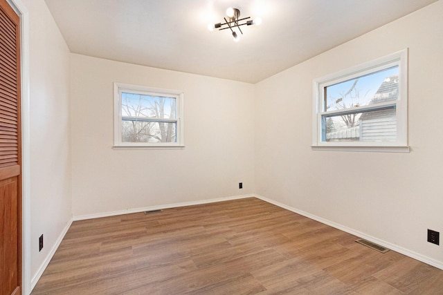
[[[186,147],[113,149],[113,82],[183,91]],[[72,54],[74,216],[253,193],[253,95],[253,84]]]

